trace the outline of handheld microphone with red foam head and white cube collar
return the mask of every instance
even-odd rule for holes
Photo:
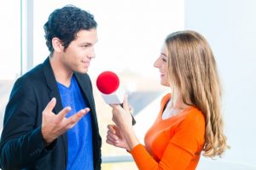
[[[107,104],[119,104],[123,107],[125,90],[119,87],[119,77],[112,71],[103,71],[96,79],[96,87],[102,93]],[[132,125],[136,121],[132,117]]]

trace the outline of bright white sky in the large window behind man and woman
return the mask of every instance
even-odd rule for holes
[[[152,77],[151,73],[155,72],[153,77],[159,77],[153,63],[166,35],[183,28],[183,0],[34,1],[34,65],[43,62],[49,54],[43,29],[49,14],[70,3],[90,11],[98,23],[99,41],[96,58],[90,65],[90,77],[106,70],[129,70],[144,77]]]

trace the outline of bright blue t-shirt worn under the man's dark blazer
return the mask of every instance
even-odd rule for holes
[[[87,107],[78,82],[72,77],[71,84],[67,88],[57,82],[61,94],[62,106],[70,106],[71,111],[67,117]],[[68,159],[67,170],[93,170],[93,146],[91,132],[90,112],[83,116],[71,129],[67,131],[68,137]]]

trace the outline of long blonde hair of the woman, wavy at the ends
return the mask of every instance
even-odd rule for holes
[[[212,49],[195,31],[177,31],[166,37],[168,78],[183,102],[205,116],[204,156],[221,156],[228,148],[221,114],[221,86]]]

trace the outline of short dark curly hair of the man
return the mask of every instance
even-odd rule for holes
[[[44,24],[44,37],[50,55],[54,51],[51,43],[53,37],[58,37],[64,49],[66,49],[70,42],[76,38],[80,30],[90,31],[90,29],[94,29],[96,26],[97,23],[94,20],[94,16],[81,8],[67,5],[63,8],[55,9]]]

